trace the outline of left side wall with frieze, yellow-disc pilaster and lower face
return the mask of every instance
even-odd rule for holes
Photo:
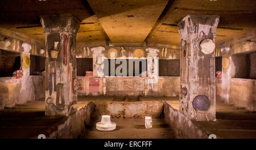
[[[44,98],[44,76],[30,76],[30,54],[44,57],[43,43],[0,28],[0,49],[0,71],[6,73],[0,78],[0,109]]]

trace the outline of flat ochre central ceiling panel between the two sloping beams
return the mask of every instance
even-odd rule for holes
[[[168,0],[88,0],[112,42],[143,42]]]

